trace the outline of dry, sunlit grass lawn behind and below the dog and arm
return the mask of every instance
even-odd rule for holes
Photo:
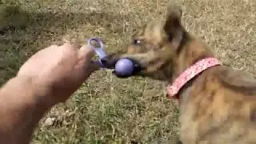
[[[167,0],[9,0],[0,3],[0,85],[26,58],[62,38],[100,37],[109,52],[122,49],[133,30],[162,17]],[[182,22],[218,58],[256,75],[256,1],[178,0]],[[10,7],[6,7],[10,6]],[[18,8],[14,7],[18,6]],[[178,134],[178,107],[162,82],[118,79],[98,71],[66,103],[55,106],[32,143],[147,143]]]

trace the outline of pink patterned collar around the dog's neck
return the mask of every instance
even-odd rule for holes
[[[181,75],[179,75],[171,86],[167,86],[169,96],[171,98],[179,98],[178,91],[181,90],[182,86],[185,86],[186,82],[189,82],[202,71],[217,65],[221,65],[217,58],[204,58],[196,62],[193,66],[190,66]]]

